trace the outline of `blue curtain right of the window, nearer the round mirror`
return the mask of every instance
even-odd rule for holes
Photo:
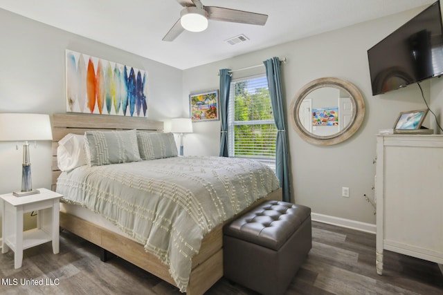
[[[287,146],[286,121],[284,120],[282,81],[280,77],[280,59],[273,57],[263,61],[268,79],[269,95],[271,96],[272,113],[277,126],[277,140],[275,144],[275,174],[280,180],[283,190],[283,200],[291,202],[289,186],[289,153]]]

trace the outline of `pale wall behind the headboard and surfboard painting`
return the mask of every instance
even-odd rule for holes
[[[0,9],[0,112],[65,113],[66,49],[147,71],[148,117],[179,117],[182,71]],[[10,126],[13,128],[13,126]],[[30,149],[33,187],[51,188],[51,142]],[[0,142],[0,193],[21,189],[22,149]]]

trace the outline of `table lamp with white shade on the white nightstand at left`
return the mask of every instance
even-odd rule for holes
[[[0,141],[24,142],[21,191],[14,191],[14,196],[28,196],[39,193],[33,189],[30,174],[28,141],[52,140],[49,115],[30,113],[0,113]],[[18,143],[17,143],[18,149]]]

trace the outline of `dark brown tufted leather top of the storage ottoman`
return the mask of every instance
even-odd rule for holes
[[[311,215],[306,206],[267,201],[224,227],[224,234],[278,250]]]

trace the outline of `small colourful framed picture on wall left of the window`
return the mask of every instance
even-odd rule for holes
[[[189,95],[192,122],[219,120],[219,91],[205,91]]]

